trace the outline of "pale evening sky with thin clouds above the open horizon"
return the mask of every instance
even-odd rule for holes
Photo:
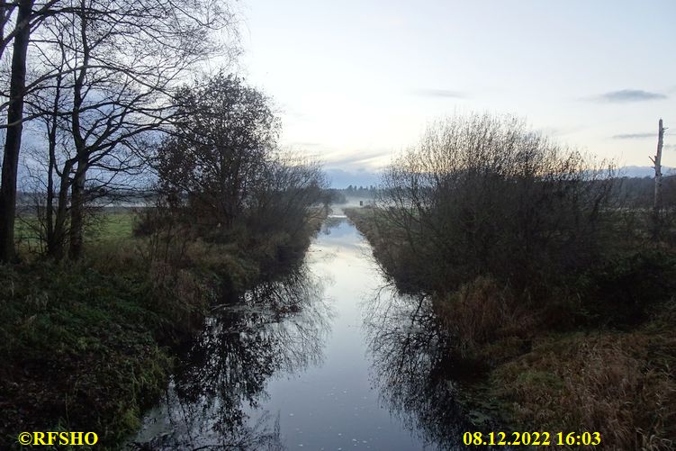
[[[241,0],[239,71],[281,144],[372,173],[454,113],[514,113],[555,140],[676,166],[676,1]]]

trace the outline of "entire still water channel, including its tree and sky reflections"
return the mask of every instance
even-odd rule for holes
[[[447,338],[428,303],[395,293],[370,254],[347,219],[329,217],[302,266],[216,307],[130,447],[462,444],[473,428],[445,375]]]

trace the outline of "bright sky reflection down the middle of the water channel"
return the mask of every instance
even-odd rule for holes
[[[383,279],[365,258],[368,247],[351,223],[340,221],[329,231],[320,234],[309,256],[312,272],[331,281],[325,295],[336,311],[324,364],[272,379],[261,407],[279,412],[289,449],[421,449],[371,388],[360,304]]]

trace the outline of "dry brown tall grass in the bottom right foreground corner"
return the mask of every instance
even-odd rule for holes
[[[492,375],[510,421],[538,430],[598,431],[610,449],[673,449],[676,338],[645,331],[539,342]]]

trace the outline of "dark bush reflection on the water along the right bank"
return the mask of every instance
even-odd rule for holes
[[[368,304],[365,330],[372,377],[390,410],[429,445],[466,449],[463,432],[475,428],[455,401],[451,338],[429,299],[383,288]]]

